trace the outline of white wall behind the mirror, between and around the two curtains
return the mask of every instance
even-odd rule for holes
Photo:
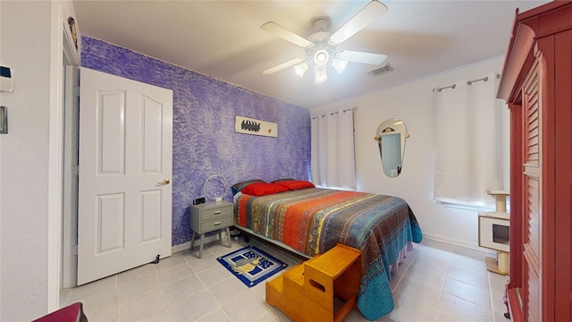
[[[432,89],[457,80],[476,79],[489,72],[501,72],[502,62],[502,57],[497,57],[462,66],[392,89],[315,107],[311,113],[316,115],[357,106],[357,190],[393,195],[408,201],[425,237],[477,247],[477,213],[445,208],[433,201],[435,95]],[[391,74],[379,77],[391,77]],[[397,178],[383,174],[379,148],[374,140],[379,124],[390,118],[403,121],[411,134],[406,141],[403,169]]]

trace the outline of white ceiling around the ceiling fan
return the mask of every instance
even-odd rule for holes
[[[367,3],[356,1],[74,0],[80,33],[307,108],[388,89],[434,73],[503,55],[515,10],[549,1],[383,1],[388,12],[339,48],[389,55],[394,71],[370,77],[372,65],[349,63],[314,84],[308,70],[265,69],[304,55],[260,26],[274,21],[307,38],[318,17],[331,31]]]

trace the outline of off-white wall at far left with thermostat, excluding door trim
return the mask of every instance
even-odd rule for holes
[[[49,2],[0,2],[0,61],[13,68],[14,92],[2,93],[8,134],[2,144],[3,321],[47,310]]]

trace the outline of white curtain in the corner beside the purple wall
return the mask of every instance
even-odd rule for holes
[[[312,182],[356,189],[353,109],[312,116]]]

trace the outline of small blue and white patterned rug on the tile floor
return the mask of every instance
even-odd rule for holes
[[[223,257],[216,258],[216,260],[248,287],[252,287],[288,267],[288,264],[282,260],[274,258],[252,245],[232,251]]]

